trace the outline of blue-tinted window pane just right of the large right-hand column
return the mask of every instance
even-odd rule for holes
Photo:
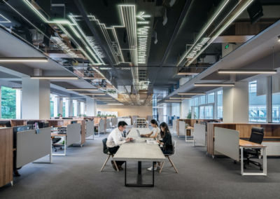
[[[267,121],[267,81],[249,82],[249,121]]]

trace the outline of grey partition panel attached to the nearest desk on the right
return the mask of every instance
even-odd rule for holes
[[[227,128],[214,128],[215,150],[239,161],[239,131]]]

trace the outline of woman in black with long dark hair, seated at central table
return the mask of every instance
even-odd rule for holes
[[[160,137],[162,137],[162,140],[157,139],[157,142],[160,144],[160,149],[162,149],[163,154],[172,154],[173,152],[173,145],[172,145],[172,136],[169,131],[167,123],[161,123],[160,124]],[[160,163],[159,163],[160,165]],[[153,171],[160,169],[161,166],[156,167],[156,164],[153,165],[153,167],[148,168],[148,170]]]

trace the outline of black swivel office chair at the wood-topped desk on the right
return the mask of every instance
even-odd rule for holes
[[[264,136],[265,128],[253,127],[251,130],[251,137],[248,141],[257,144],[262,144],[262,139]],[[244,169],[246,169],[245,165],[252,163],[253,165],[260,167],[260,170],[262,171],[262,165],[260,163],[250,160],[250,158],[252,157],[258,158],[260,156],[260,149],[244,149],[243,154],[244,158],[247,158],[247,160],[244,163]]]

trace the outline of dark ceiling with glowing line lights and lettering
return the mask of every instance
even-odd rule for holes
[[[280,19],[280,0],[254,0],[251,5],[256,1],[264,16],[254,25],[246,9],[241,12],[251,0],[176,0],[173,5],[170,0],[0,1],[0,55],[49,58],[47,63],[3,63],[0,80],[20,84],[22,76],[42,69],[43,76],[79,76],[77,81],[51,81],[55,89],[69,95],[78,92],[65,88],[99,88],[123,104],[139,105],[149,105],[155,89],[169,90],[169,97],[179,90],[193,90],[188,84],[195,79],[178,85],[181,78],[192,75],[200,74],[196,80],[201,82],[229,81],[216,70],[246,67],[271,55],[272,45],[275,52],[280,50],[269,37],[273,34],[269,28],[276,28]],[[212,43],[206,43],[197,58],[183,56],[195,41],[207,37]],[[146,38],[145,48],[141,38]],[[227,43],[240,47],[233,46],[226,55]],[[227,62],[223,66],[222,58]],[[174,91],[174,86],[179,89]],[[110,90],[116,94],[109,94]]]

